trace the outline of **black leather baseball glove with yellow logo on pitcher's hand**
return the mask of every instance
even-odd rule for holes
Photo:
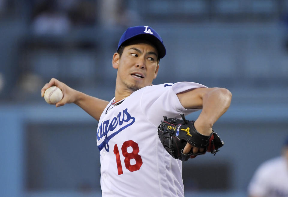
[[[217,133],[213,131],[210,136],[202,135],[195,129],[193,120],[186,120],[184,114],[181,114],[181,117],[183,120],[164,116],[164,120],[161,120],[158,126],[158,136],[167,152],[173,158],[182,161],[206,152],[211,152],[215,156],[218,149],[224,145]],[[189,154],[185,155],[183,150],[187,142],[195,147],[203,148],[204,151],[193,154],[191,149]]]

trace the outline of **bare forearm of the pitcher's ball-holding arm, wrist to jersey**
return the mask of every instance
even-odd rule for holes
[[[74,101],[74,103],[81,107],[93,118],[99,121],[102,112],[104,111],[105,107],[108,105],[109,102],[89,96],[79,91],[76,91],[75,94],[76,100]]]

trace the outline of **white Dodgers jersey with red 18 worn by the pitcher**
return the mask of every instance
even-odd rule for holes
[[[97,129],[102,196],[184,196],[182,161],[164,149],[157,127],[163,116],[180,118],[198,110],[184,109],[176,94],[199,87],[206,86],[146,86],[105,108]]]

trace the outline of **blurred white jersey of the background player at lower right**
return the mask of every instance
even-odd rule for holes
[[[288,162],[283,157],[263,163],[255,172],[248,193],[254,196],[288,197]]]

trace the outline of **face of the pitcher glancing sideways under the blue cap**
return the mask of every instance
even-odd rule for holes
[[[113,68],[118,69],[116,86],[137,91],[151,85],[159,69],[157,58],[156,48],[147,43],[126,46],[121,57],[115,53]]]

